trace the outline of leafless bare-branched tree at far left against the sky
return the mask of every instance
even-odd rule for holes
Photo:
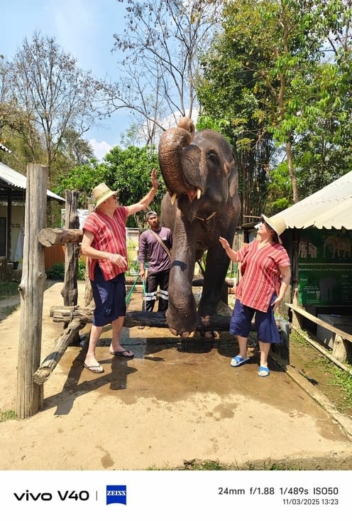
[[[80,69],[55,38],[39,32],[25,38],[13,60],[2,64],[0,82],[1,135],[10,142],[21,139],[31,162],[47,164],[51,173],[58,156],[61,163],[66,156],[70,168],[92,156],[81,138],[102,113],[103,84]]]

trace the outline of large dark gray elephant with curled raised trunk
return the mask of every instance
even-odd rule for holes
[[[187,338],[197,326],[194,264],[206,250],[199,316],[216,314],[221,298],[229,257],[219,236],[232,244],[241,210],[238,171],[226,139],[213,130],[194,132],[187,117],[161,136],[159,163],[167,186],[160,220],[173,234],[166,321],[172,334]]]

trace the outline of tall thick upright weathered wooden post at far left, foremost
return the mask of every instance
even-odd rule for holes
[[[43,297],[45,289],[44,248],[38,233],[46,223],[48,167],[27,166],[25,235],[21,284],[21,319],[17,362],[17,403],[19,419],[33,416],[43,407],[43,386],[33,381],[40,365]]]

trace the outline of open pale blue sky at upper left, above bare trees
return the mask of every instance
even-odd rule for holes
[[[125,5],[116,0],[9,0],[1,7],[0,54],[10,60],[24,38],[31,40],[40,31],[55,37],[79,68],[117,80],[121,55],[111,49],[114,33],[123,32],[124,14]],[[128,114],[119,111],[104,127],[91,128],[83,137],[101,159],[111,146],[120,144],[121,133],[130,126]]]

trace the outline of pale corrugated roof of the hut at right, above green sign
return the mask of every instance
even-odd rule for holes
[[[275,216],[288,228],[352,230],[352,171]]]

